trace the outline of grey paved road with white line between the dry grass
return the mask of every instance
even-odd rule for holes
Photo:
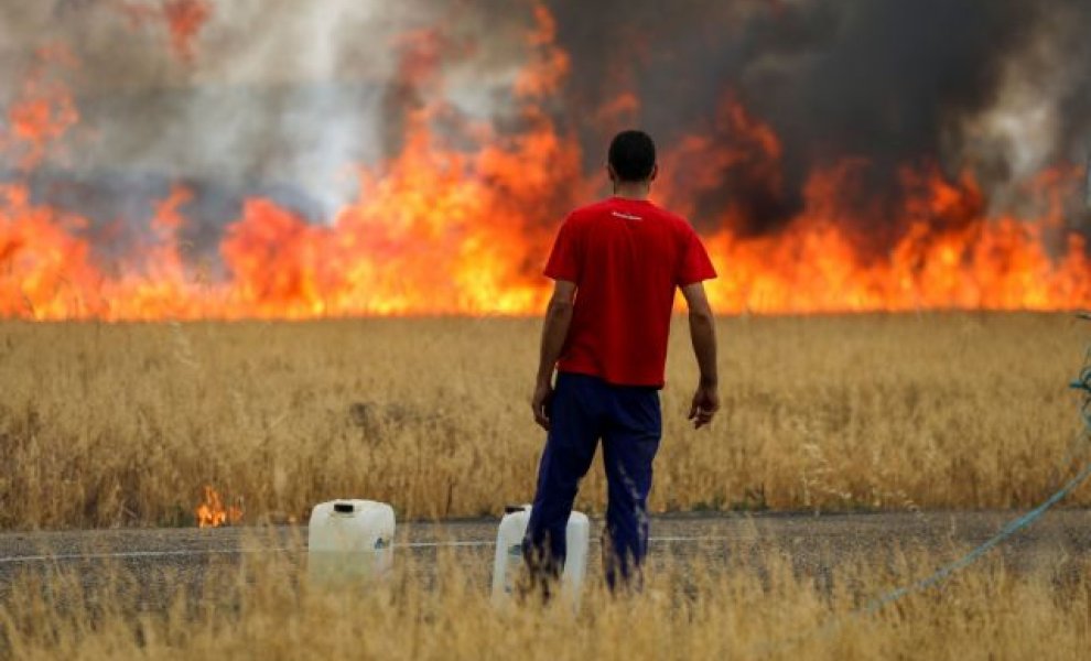
[[[651,560],[760,566],[780,553],[797,571],[827,574],[846,562],[887,562],[901,551],[928,550],[935,561],[958,557],[992,537],[1013,512],[926,512],[860,514],[669,516],[652,520]],[[432,575],[436,554],[450,552],[483,589],[492,571],[495,520],[402,523],[396,563]],[[601,530],[601,521],[593,522]],[[588,576],[601,575],[598,541],[592,533]],[[1014,571],[1066,566],[1091,557],[1091,511],[1059,510],[1005,542],[994,553]],[[93,530],[0,533],[0,596],[21,573],[71,568],[85,585],[104,582],[121,567],[144,587],[199,586],[213,567],[245,566],[255,559],[288,559],[289,571],[306,554],[304,527],[214,530]],[[923,572],[926,567],[921,567]],[[152,595],[155,597],[155,595]],[[169,595],[159,595],[158,598]]]

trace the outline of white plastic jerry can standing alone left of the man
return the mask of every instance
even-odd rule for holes
[[[335,583],[379,577],[393,563],[393,508],[374,500],[314,506],[307,527],[307,576]]]

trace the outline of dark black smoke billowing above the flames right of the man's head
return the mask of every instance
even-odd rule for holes
[[[972,169],[1007,204],[1008,184],[1059,160],[1082,162],[1091,139],[1091,8],[1079,0],[555,6],[563,45],[581,63],[575,105],[618,93],[603,80],[630,85],[644,101],[638,123],[669,147],[715,132],[711,118],[731,89],[774,127],[782,195],[724,173],[725,185],[698,204],[712,216],[742,201],[750,225],[741,229],[753,232],[786,223],[808,173],[846,156],[867,160],[874,199],[896,204],[898,169],[930,162],[949,175]]]

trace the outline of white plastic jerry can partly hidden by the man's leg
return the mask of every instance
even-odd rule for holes
[[[493,603],[507,603],[523,567],[522,538],[530,522],[530,506],[508,507],[496,533],[496,557],[493,561]],[[568,552],[561,574],[561,592],[575,603],[587,573],[587,544],[591,522],[582,512],[569,514],[564,529]]]

